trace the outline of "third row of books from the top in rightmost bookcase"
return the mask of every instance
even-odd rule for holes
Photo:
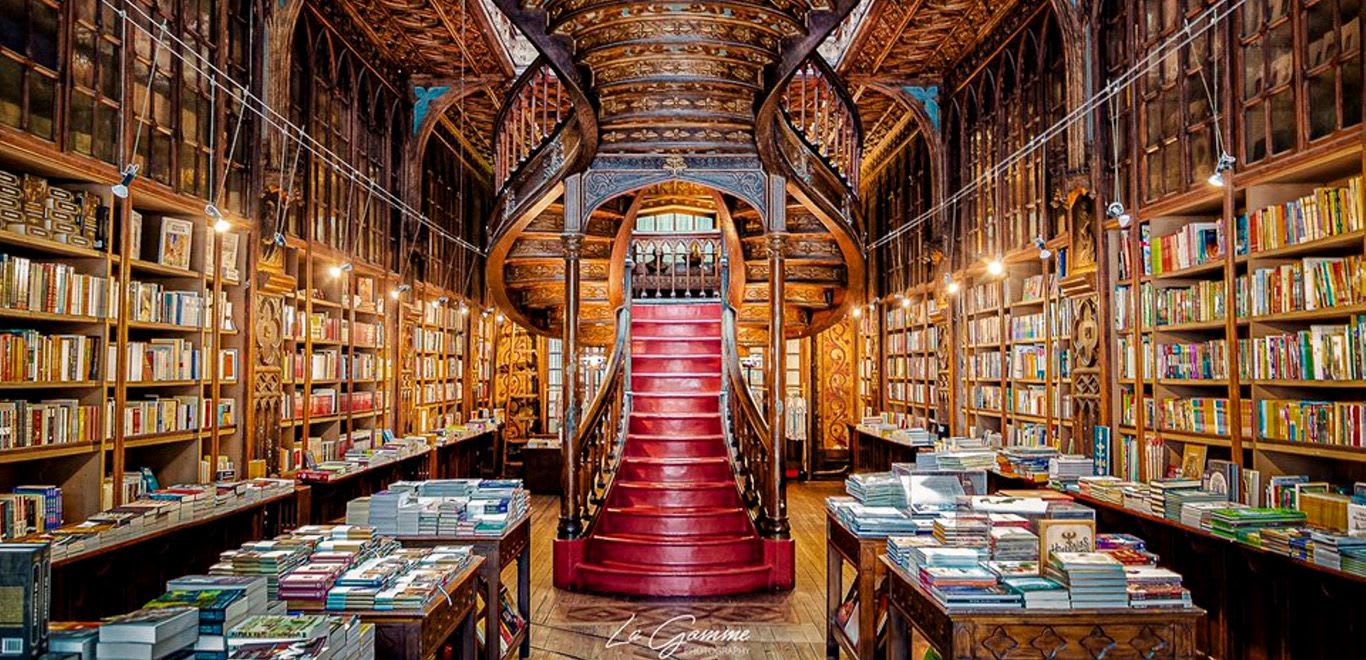
[[[1258,380],[1366,379],[1366,316],[1294,333],[1239,339],[1239,372]]]

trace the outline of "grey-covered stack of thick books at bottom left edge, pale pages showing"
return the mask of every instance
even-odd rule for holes
[[[96,657],[158,660],[183,655],[199,640],[199,611],[193,607],[143,608],[100,624]]]

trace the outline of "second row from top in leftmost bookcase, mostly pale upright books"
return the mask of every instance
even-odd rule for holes
[[[109,279],[81,273],[70,264],[0,254],[0,307],[107,318]]]

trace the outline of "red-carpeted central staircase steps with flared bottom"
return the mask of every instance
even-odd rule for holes
[[[635,305],[626,448],[586,538],[555,547],[555,585],[630,596],[791,589],[791,540],[761,538],[721,428],[721,306]]]

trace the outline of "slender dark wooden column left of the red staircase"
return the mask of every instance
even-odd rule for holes
[[[560,236],[564,245],[564,329],[561,332],[560,387],[563,396],[561,429],[564,441],[564,497],[560,500],[560,538],[578,538],[583,534],[583,506],[581,501],[583,477],[579,455],[583,448],[579,436],[579,257],[583,251],[583,234],[566,232]]]

